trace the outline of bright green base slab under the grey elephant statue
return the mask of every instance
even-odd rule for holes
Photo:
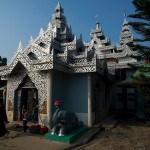
[[[72,142],[77,140],[87,129],[88,129],[87,127],[81,127],[79,129],[70,132],[66,136],[51,135],[51,132],[49,132],[46,133],[44,137],[49,140],[71,144]]]

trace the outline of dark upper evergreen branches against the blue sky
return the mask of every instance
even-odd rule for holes
[[[135,13],[129,17],[135,21],[129,22],[129,25],[139,34],[139,38],[134,39],[136,43],[129,46],[133,50],[138,50],[144,58],[150,59],[150,52],[147,52],[150,51],[150,0],[133,0],[132,3]]]

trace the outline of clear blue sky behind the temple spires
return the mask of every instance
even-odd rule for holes
[[[59,1],[73,33],[77,37],[82,33],[85,42],[90,41],[90,31],[98,19],[105,36],[119,43],[123,14],[134,13],[131,0]],[[46,30],[57,3],[58,0],[0,0],[0,55],[8,63],[20,41],[25,48],[31,35],[35,39],[41,27]]]

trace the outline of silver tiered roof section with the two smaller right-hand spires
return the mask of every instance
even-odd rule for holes
[[[128,43],[133,42],[133,35],[126,18],[124,18],[120,35],[120,45],[115,46],[105,38],[99,22],[96,22],[95,30],[91,31],[91,42],[86,43],[88,49],[95,48],[97,57],[100,60],[106,59],[110,70],[116,68],[129,68],[128,63],[138,64],[137,59],[132,56],[140,55],[137,51],[132,51]]]

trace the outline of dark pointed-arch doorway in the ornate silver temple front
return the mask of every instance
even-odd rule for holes
[[[38,90],[28,76],[16,89],[14,98],[14,120],[22,120],[24,106],[29,114],[28,119],[38,122]]]

